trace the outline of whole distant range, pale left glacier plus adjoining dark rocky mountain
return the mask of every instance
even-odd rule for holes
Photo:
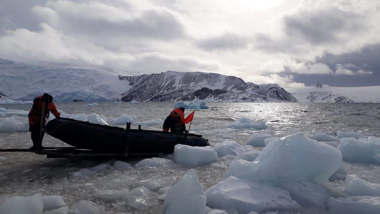
[[[112,69],[34,66],[0,59],[3,96],[32,100],[48,92],[55,101],[205,101],[254,102],[297,99],[277,84],[256,85],[215,73],[174,72],[120,76]]]

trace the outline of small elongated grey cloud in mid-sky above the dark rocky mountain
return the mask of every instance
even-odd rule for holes
[[[196,44],[198,47],[206,51],[234,50],[247,47],[246,39],[230,33],[203,39],[196,42]]]

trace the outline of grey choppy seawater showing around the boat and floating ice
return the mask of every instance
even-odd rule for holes
[[[164,120],[173,109],[173,103],[99,103],[98,106],[85,106],[85,103],[56,103],[57,109],[68,114],[104,115],[117,118],[121,115],[135,115],[137,121],[153,119]],[[337,131],[354,131],[365,135],[380,136],[379,103],[208,103],[209,109],[196,112],[191,130],[203,134],[211,145],[223,140],[234,140],[244,144],[252,133],[268,132],[275,136],[291,133],[328,133],[336,135]],[[6,109],[29,110],[30,104],[0,105]],[[185,115],[190,111],[186,110]],[[266,130],[227,129],[226,125],[241,117],[267,121]],[[160,126],[143,127],[160,130]],[[220,129],[223,129],[222,134]],[[219,134],[215,132],[219,130]],[[32,145],[30,133],[0,133],[1,148],[28,148]],[[50,136],[46,136],[44,146],[62,145]],[[87,199],[105,205],[107,213],[135,212],[160,213],[162,201],[154,196],[147,206],[140,210],[119,207],[94,198],[100,190],[128,188],[136,181],[157,177],[175,176],[179,179],[190,167],[175,166],[162,169],[133,169],[125,171],[106,170],[88,177],[73,177],[72,174],[83,168],[91,168],[100,163],[113,163],[114,160],[86,159],[50,159],[33,153],[2,153],[5,157],[0,162],[0,203],[4,197],[24,196],[34,193],[43,195],[60,195],[69,207],[80,199]],[[171,158],[171,156],[167,156]],[[134,165],[141,158],[126,159]],[[221,159],[218,164],[228,167],[229,161]],[[356,174],[371,183],[380,183],[380,167],[377,165],[348,164],[349,174]],[[225,169],[213,166],[195,168],[204,189],[208,189],[222,180]],[[343,181],[327,182],[325,186],[333,196],[346,196]],[[157,194],[154,193],[153,194]],[[306,210],[307,211],[307,210]],[[310,210],[309,210],[310,211]],[[312,211],[310,211],[312,212]]]

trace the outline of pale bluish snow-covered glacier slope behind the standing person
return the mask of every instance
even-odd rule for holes
[[[0,59],[0,90],[20,100],[48,92],[55,101],[112,101],[126,90],[119,74],[112,69],[43,67]]]

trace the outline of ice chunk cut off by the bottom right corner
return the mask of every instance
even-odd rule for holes
[[[380,197],[350,196],[333,198],[328,201],[329,214],[374,214],[379,213]]]

